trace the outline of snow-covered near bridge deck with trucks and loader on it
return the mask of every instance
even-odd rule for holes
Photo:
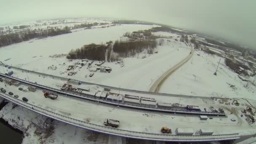
[[[0,83],[0,86],[5,87],[4,83]],[[23,87],[27,86],[23,85]],[[237,125],[236,122],[230,121],[230,118],[235,117],[235,115],[230,114],[227,118],[214,117],[212,120],[207,121],[201,121],[199,120],[199,117],[188,115],[171,115],[157,112],[147,112],[148,114],[145,115],[145,111],[143,110],[131,110],[121,107],[102,105],[94,102],[83,101],[81,99],[70,98],[64,95],[59,95],[58,99],[56,100],[50,100],[42,96],[41,90],[37,90],[36,92],[24,93],[22,91],[19,91],[18,88],[13,85],[6,86],[5,89],[7,90],[7,92],[12,91],[13,93],[20,95],[20,97],[16,99],[13,96],[0,93],[1,96],[32,111],[48,117],[52,117],[64,123],[69,123],[81,128],[87,128],[89,130],[109,133],[117,136],[163,141],[206,141],[209,139],[237,139],[240,135],[233,133],[242,133],[248,129],[250,129],[248,133],[255,133],[255,125],[248,125],[248,123],[244,119],[241,121],[240,125]],[[26,96],[29,101],[27,103],[21,101],[22,96]],[[160,97],[159,99],[163,98]],[[166,99],[174,100],[175,98],[166,97]],[[200,103],[199,100],[200,99],[198,98],[187,98],[187,100],[185,101],[187,101],[187,103]],[[179,101],[179,98],[176,99],[176,101]],[[205,105],[212,105],[214,104],[214,101],[215,100],[211,101],[209,99],[202,100]],[[183,102],[184,100],[182,99],[181,103]],[[240,100],[240,103],[242,102],[243,101]],[[214,105],[217,107],[219,104]],[[106,117],[111,117],[113,119],[119,120],[121,123],[120,127],[109,128],[104,126],[102,123],[104,118]],[[173,130],[175,130],[176,128],[193,128],[195,131],[197,131],[198,129],[207,126],[209,128],[212,128],[212,130],[214,131],[214,135],[164,135],[160,133],[160,128],[163,126],[163,124],[168,125],[168,127],[172,128]],[[233,131],[232,133],[230,133],[230,131],[222,131],[223,128],[227,130],[232,129]],[[219,131],[220,129],[221,131]]]

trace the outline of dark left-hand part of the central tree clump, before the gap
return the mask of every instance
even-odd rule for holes
[[[102,61],[105,60],[105,52],[107,48],[108,45],[96,45],[91,43],[89,45],[84,45],[82,48],[69,51],[67,59],[91,59]]]

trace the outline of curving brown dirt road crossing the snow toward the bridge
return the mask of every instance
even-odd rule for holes
[[[192,58],[194,54],[194,48],[191,46],[191,53],[189,53],[189,55],[183,59],[182,61],[180,61],[178,64],[174,65],[173,67],[171,67],[168,71],[166,71],[165,73],[163,73],[163,75],[161,75],[154,83],[153,85],[150,87],[149,92],[155,92],[158,93],[161,86],[163,85],[163,83],[165,82],[165,80],[173,73],[175,72],[177,69],[179,69],[181,66],[183,66],[183,64],[186,64],[187,61],[189,61],[189,59]]]

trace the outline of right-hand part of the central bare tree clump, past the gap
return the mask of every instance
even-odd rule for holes
[[[148,53],[153,53],[152,49],[157,46],[156,40],[136,40],[136,41],[115,41],[113,52],[118,53],[120,57],[135,56],[145,49],[151,49]]]

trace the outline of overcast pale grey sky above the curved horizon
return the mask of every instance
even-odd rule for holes
[[[0,24],[112,17],[193,29],[256,48],[256,0],[1,0]]]

